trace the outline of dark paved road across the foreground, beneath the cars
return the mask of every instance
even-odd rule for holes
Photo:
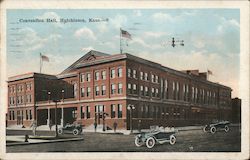
[[[7,152],[239,152],[240,134],[237,127],[231,128],[228,133],[220,131],[214,135],[200,130],[182,131],[176,134],[175,145],[165,143],[148,149],[136,147],[134,135],[85,133],[83,141],[8,146]]]

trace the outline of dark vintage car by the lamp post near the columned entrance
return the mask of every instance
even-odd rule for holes
[[[66,124],[64,127],[58,129],[58,134],[72,133],[79,135],[82,132],[82,125],[79,124]]]

